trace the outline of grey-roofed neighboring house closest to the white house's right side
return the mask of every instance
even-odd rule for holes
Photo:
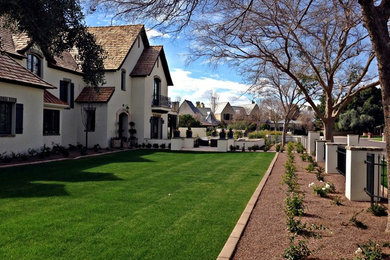
[[[199,120],[202,126],[217,126],[220,123],[210,108],[196,107],[189,100],[184,100],[180,105],[179,115],[191,115]]]

